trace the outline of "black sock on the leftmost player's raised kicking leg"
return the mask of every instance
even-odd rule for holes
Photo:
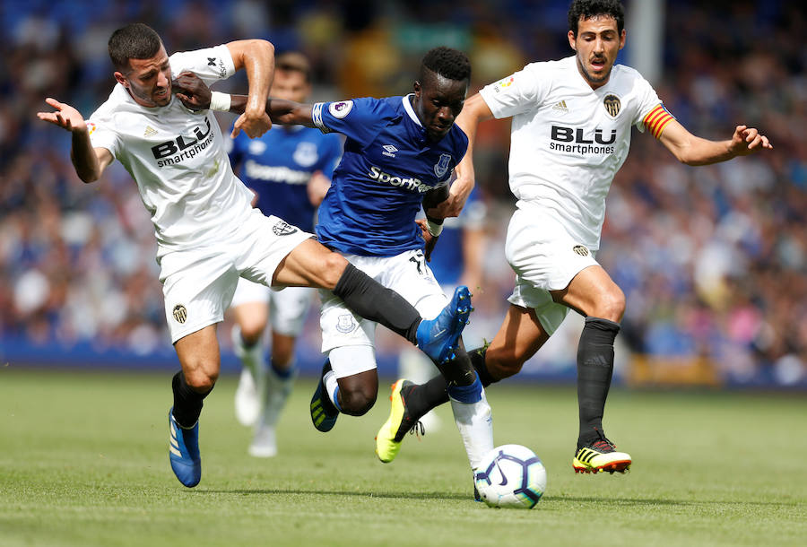
[[[334,287],[334,295],[365,319],[380,323],[417,344],[421,314],[404,297],[387,289],[354,265],[347,265]]]

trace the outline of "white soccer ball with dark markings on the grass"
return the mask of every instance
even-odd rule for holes
[[[473,482],[491,508],[531,509],[546,490],[546,468],[529,448],[502,445],[482,458]]]

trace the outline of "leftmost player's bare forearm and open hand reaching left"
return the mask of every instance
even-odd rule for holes
[[[112,162],[112,153],[106,148],[92,148],[90,131],[81,112],[65,102],[56,99],[45,100],[54,112],[37,112],[37,117],[55,126],[59,126],[73,135],[70,159],[73,161],[75,174],[83,182],[94,182],[100,178],[104,169]]]

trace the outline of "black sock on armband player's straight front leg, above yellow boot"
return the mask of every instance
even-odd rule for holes
[[[599,438],[603,431],[605,399],[613,374],[613,341],[619,332],[618,323],[586,317],[586,326],[577,346],[578,447]]]

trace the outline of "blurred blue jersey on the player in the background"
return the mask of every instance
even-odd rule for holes
[[[337,135],[303,126],[273,126],[260,138],[241,132],[232,141],[230,162],[239,178],[255,190],[264,214],[281,217],[302,230],[314,229],[316,207],[308,199],[315,171],[331,178],[342,154]]]

